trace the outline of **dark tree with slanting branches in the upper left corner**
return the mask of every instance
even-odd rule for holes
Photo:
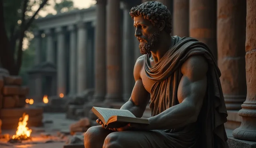
[[[25,32],[48,0],[0,0],[0,61],[11,75],[18,75],[22,65]],[[38,8],[36,8],[38,7]]]

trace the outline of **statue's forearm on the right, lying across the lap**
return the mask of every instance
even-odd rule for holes
[[[195,108],[186,102],[175,105],[150,117],[149,130],[166,130],[183,127],[196,121]]]

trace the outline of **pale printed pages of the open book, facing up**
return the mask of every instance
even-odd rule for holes
[[[111,116],[135,117],[129,110],[94,107],[107,121]]]

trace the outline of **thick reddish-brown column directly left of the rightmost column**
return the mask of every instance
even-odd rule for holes
[[[245,35],[246,1],[218,0],[218,67],[229,110],[241,109],[246,99]]]

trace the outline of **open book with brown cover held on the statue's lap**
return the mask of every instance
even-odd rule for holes
[[[149,124],[145,118],[137,118],[129,110],[93,107],[91,111],[103,122],[105,129],[121,128],[129,123]]]

